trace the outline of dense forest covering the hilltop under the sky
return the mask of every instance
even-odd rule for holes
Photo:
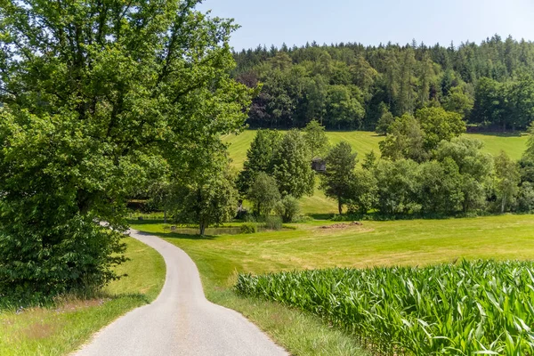
[[[393,117],[442,107],[471,130],[524,129],[534,118],[534,44],[493,36],[481,44],[306,44],[234,53],[233,75],[260,85],[251,127],[385,131]],[[381,128],[382,127],[382,128]]]

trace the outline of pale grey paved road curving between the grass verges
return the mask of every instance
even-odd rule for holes
[[[238,312],[206,300],[197,266],[180,248],[157,237],[131,236],[166,262],[158,299],[97,333],[76,356],[287,355]]]

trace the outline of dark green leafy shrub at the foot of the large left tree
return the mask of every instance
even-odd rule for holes
[[[113,267],[125,261],[116,255],[125,250],[122,233],[87,217],[77,215],[53,231],[21,231],[27,230],[17,224],[0,231],[0,296],[18,304],[105,286],[117,279]]]

